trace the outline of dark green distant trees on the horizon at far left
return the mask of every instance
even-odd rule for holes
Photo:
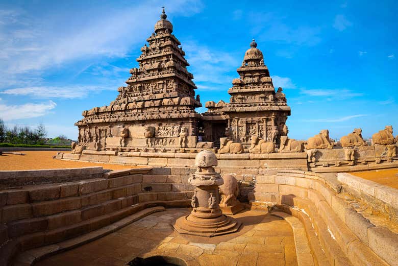
[[[0,143],[13,144],[44,144],[47,131],[43,124],[39,124],[36,129],[28,126],[7,128],[3,119],[0,118]]]

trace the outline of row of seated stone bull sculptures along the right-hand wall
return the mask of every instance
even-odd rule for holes
[[[329,130],[324,129],[308,140],[295,140],[287,136],[288,128],[285,125],[283,129],[285,136],[281,136],[281,144],[278,152],[304,152],[309,150],[317,149],[333,149],[336,146],[336,142],[333,142],[329,137]],[[398,135],[394,138],[392,135],[392,126],[386,126],[385,129],[372,135],[372,145],[385,145],[394,146],[391,147],[391,157],[395,157],[395,143],[398,142]],[[362,129],[356,128],[352,133],[341,137],[340,144],[342,148],[355,148],[368,146],[368,143],[362,137]],[[266,142],[260,139],[258,136],[252,136],[252,143],[248,148],[249,153],[273,153],[275,152],[275,143]],[[244,148],[241,143],[233,142],[227,137],[220,138],[220,148],[218,149],[219,154],[223,153],[244,153]],[[311,155],[309,155],[311,156]]]

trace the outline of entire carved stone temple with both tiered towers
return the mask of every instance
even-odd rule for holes
[[[87,150],[175,151],[178,148],[213,148],[220,138],[248,148],[253,135],[279,143],[290,115],[282,88],[275,91],[263,54],[253,40],[232,81],[230,103],[210,101],[199,114],[193,75],[188,72],[180,41],[164,10],[155,32],[146,39],[130,69],[127,86],[109,106],[83,111],[79,143]],[[198,141],[200,137],[201,141]]]

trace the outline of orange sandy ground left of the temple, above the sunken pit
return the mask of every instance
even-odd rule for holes
[[[19,152],[19,151],[18,151]],[[103,166],[104,169],[120,170],[133,168],[131,165],[119,165],[95,162],[76,162],[53,159],[56,151],[22,152],[26,155],[3,154],[0,156],[0,171],[10,170],[35,170],[35,169],[54,169],[54,168],[78,168],[87,166]]]

